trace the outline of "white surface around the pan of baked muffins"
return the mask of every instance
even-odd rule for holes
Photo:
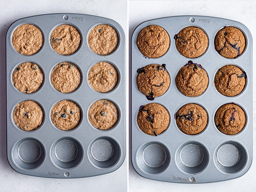
[[[175,15],[207,15],[238,21],[246,25],[251,31],[253,37],[253,47],[256,40],[256,1],[252,0],[178,0],[178,1],[129,1],[129,43],[133,30],[143,21],[168,17]],[[129,46],[130,47],[130,46]],[[130,51],[130,49],[129,49]],[[130,54],[129,54],[130,56]],[[256,58],[255,49],[253,49],[253,59]],[[254,59],[254,61],[256,61]],[[130,65],[129,57],[129,65]],[[213,63],[214,64],[214,63]],[[255,62],[253,62],[253,95],[255,98],[256,73]],[[255,99],[253,101],[253,117],[255,117]],[[253,124],[255,125],[255,118]],[[255,128],[254,128],[255,138]],[[130,146],[130,142],[129,142]],[[253,141],[254,153],[253,163],[249,171],[240,178],[225,182],[209,184],[176,184],[160,182],[142,178],[132,167],[129,153],[129,191],[256,191],[256,153],[255,140]],[[130,152],[130,150],[129,150]]]

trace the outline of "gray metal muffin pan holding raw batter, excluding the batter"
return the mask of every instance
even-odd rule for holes
[[[20,25],[33,24],[43,34],[43,46],[31,56],[21,55],[12,46],[13,31]],[[78,29],[81,45],[72,55],[63,56],[53,51],[50,44],[52,30],[70,24]],[[107,55],[97,55],[88,46],[87,36],[98,24],[113,26],[118,35],[117,49]],[[6,34],[6,97],[7,97],[7,159],[17,172],[48,178],[83,178],[113,172],[125,158],[125,38],[122,27],[115,21],[94,15],[56,13],[27,17],[15,21]],[[13,70],[23,62],[34,62],[41,67],[43,85],[32,94],[18,91],[12,83]],[[51,85],[53,67],[64,61],[75,63],[81,70],[80,86],[72,93],[60,93]],[[118,72],[118,83],[113,91],[94,91],[88,81],[90,68],[99,61],[113,64]],[[62,131],[51,120],[51,109],[60,100],[72,100],[81,108],[82,119],[77,128]],[[118,108],[118,122],[114,128],[99,130],[88,118],[92,103],[107,99]],[[36,130],[24,131],[15,125],[13,110],[24,100],[39,103],[44,112],[42,125]]]

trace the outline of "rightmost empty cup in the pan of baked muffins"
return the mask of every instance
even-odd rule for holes
[[[236,141],[222,143],[214,153],[214,164],[224,174],[235,174],[241,171],[247,163],[245,148]]]

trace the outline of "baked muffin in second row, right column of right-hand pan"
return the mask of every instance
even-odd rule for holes
[[[235,96],[244,90],[246,73],[234,65],[221,67],[214,78],[216,89],[225,96]]]

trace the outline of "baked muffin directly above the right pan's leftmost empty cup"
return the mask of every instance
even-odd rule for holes
[[[167,129],[170,115],[162,105],[149,103],[140,106],[137,123],[144,133],[157,136]]]

